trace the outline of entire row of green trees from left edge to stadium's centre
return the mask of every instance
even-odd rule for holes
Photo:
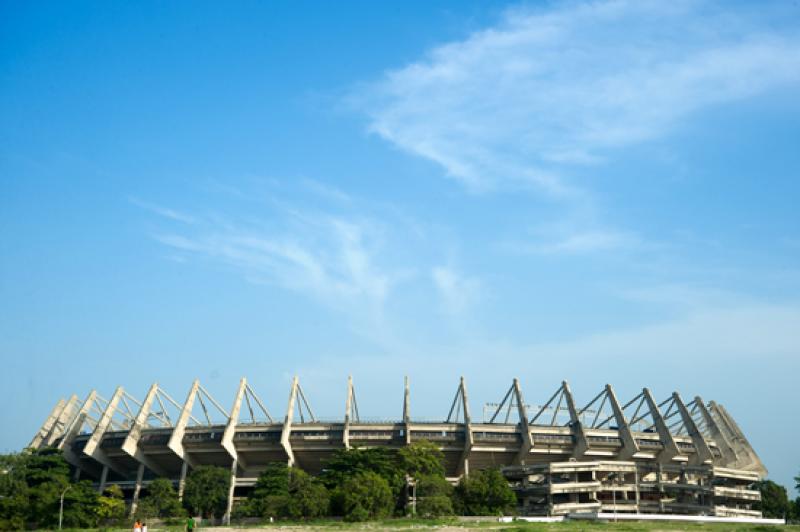
[[[399,451],[340,450],[317,477],[285,463],[269,464],[234,516],[365,521],[412,511],[424,517],[513,512],[514,494],[499,471],[476,471],[453,487],[445,479],[443,461],[434,444],[418,442]],[[151,481],[136,516],[165,519],[191,513],[219,518],[229,492],[227,468],[199,466],[186,479],[182,502],[170,480]],[[122,490],[111,485],[98,494],[89,481],[70,481],[60,451],[0,455],[0,530],[56,526],[62,494],[66,527],[111,525],[126,518]],[[412,496],[416,503],[408,506]]]

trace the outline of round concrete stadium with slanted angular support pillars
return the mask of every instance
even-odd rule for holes
[[[522,514],[761,515],[752,509],[760,495],[751,485],[766,469],[714,401],[684,403],[676,392],[657,402],[645,388],[621,404],[606,385],[578,407],[564,382],[531,407],[515,379],[491,415],[474,420],[462,378],[447,418],[423,422],[411,417],[409,399],[406,379],[402,419],[362,420],[348,378],[343,418],[321,421],[295,378],[283,420],[276,421],[246,379],[230,411],[199,381],[183,403],[158,384],[141,402],[119,387],[109,399],[92,391],[82,401],[74,395],[58,401],[30,447],[62,450],[75,477],[100,490],[119,485],[132,513],[153,478],[172,479],[182,496],[187,473],[198,465],[229,468],[230,513],[270,462],[316,474],[337,449],[397,449],[427,440],[444,453],[453,481],[471,470],[502,468]]]

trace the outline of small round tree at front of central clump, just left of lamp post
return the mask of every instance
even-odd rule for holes
[[[341,486],[344,518],[347,521],[366,521],[391,515],[395,497],[389,482],[372,471],[350,477]]]

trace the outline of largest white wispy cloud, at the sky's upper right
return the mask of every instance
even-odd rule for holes
[[[353,101],[371,131],[472,191],[533,185],[572,196],[581,186],[563,178],[565,165],[596,164],[698,109],[800,81],[797,32],[772,23],[774,4],[745,9],[646,0],[515,9]]]

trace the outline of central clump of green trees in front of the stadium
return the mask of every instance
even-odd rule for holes
[[[318,477],[284,463],[270,464],[238,517],[312,519],[342,516],[366,521],[412,511],[423,517],[497,515],[514,511],[516,498],[498,470],[477,471],[455,488],[445,479],[444,456],[432,443],[399,451],[337,451]],[[415,507],[408,501],[415,500]]]

